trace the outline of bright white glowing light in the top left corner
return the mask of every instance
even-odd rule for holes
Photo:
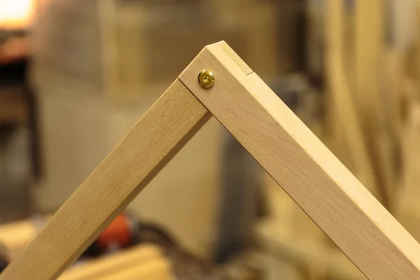
[[[34,0],[0,0],[0,28],[27,27],[34,8]]]

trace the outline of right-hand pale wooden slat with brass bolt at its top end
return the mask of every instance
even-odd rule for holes
[[[420,279],[419,244],[255,73],[213,44],[179,78],[367,278]]]

